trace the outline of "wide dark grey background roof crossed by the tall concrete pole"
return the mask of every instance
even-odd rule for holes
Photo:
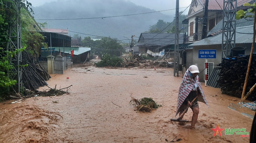
[[[153,46],[153,45],[169,45],[174,44],[174,33],[141,33],[136,46]],[[179,34],[179,44],[183,43],[183,34]]]

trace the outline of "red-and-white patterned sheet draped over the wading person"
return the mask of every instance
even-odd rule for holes
[[[182,79],[181,85],[179,87],[179,95],[178,95],[178,102],[177,102],[177,110],[176,115],[180,112],[180,106],[184,102],[184,100],[187,98],[188,94],[193,90],[193,87],[197,87],[197,101],[205,103],[207,106],[207,101],[205,99],[205,94],[203,92],[203,89],[201,87],[201,83],[199,82],[198,75],[195,77],[195,80],[189,75],[189,71],[187,69],[186,73],[184,74],[184,77]],[[208,106],[209,108],[209,106]]]

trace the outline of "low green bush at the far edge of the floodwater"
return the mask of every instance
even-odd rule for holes
[[[123,58],[113,56],[110,54],[104,54],[104,56],[101,58],[101,61],[95,63],[97,67],[121,67],[121,63],[123,63]]]

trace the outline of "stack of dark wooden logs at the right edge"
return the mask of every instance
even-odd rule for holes
[[[217,81],[221,87],[222,93],[241,98],[249,58],[250,55],[222,59],[222,62],[218,65],[220,66],[220,68],[218,68],[220,69],[220,80]],[[246,93],[249,92],[252,86],[256,83],[255,60],[256,54],[253,54],[245,91]],[[250,97],[248,98],[248,100],[255,101],[255,99],[256,92],[253,92],[252,95],[250,95]]]

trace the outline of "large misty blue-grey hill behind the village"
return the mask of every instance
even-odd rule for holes
[[[32,4],[33,5],[33,4]],[[45,3],[42,6],[32,7],[37,22],[46,22],[47,28],[69,29],[69,35],[80,32],[90,35],[131,39],[131,35],[139,37],[141,32],[149,30],[159,19],[172,22],[173,17],[154,10],[137,6],[125,0],[69,0]],[[129,15],[147,13],[139,15]],[[104,18],[109,16],[129,15]],[[102,19],[103,17],[103,19]],[[39,19],[67,19],[67,18],[94,18],[79,20],[39,20]],[[89,35],[81,34],[81,37]],[[90,36],[93,38],[94,36]],[[134,38],[135,39],[135,38]],[[138,38],[136,38],[138,39]]]

